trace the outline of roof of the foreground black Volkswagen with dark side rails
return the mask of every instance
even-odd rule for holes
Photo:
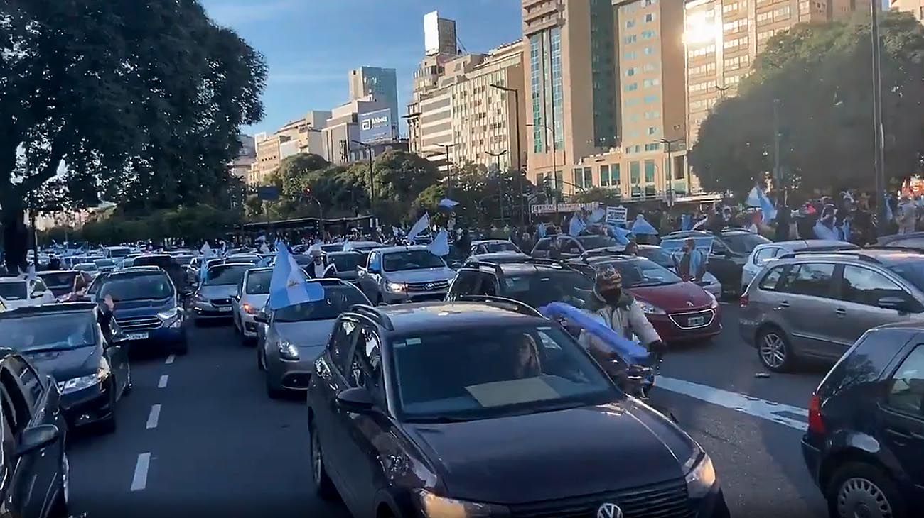
[[[521,302],[509,301],[507,303],[522,306]],[[383,315],[390,322],[390,325],[384,327],[391,327],[390,332],[401,335],[420,331],[443,332],[451,329],[472,329],[496,324],[549,324],[549,321],[538,313],[517,312],[511,307],[505,307],[504,302],[468,300],[411,302],[378,306],[375,312]]]

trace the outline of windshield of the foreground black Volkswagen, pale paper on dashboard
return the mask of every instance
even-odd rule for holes
[[[399,413],[407,421],[534,414],[622,396],[552,325],[396,336],[392,347]]]

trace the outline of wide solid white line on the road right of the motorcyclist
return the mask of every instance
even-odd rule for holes
[[[695,397],[696,399],[711,403],[712,405],[731,408],[732,410],[743,412],[755,418],[767,419],[768,421],[788,426],[796,430],[808,430],[808,423],[805,421],[786,416],[786,414],[789,414],[808,418],[808,410],[799,406],[784,405],[783,403],[776,403],[747,394],[739,394],[709,385],[700,385],[699,383],[666,378],[664,376],[658,376],[654,386],[677,394]]]

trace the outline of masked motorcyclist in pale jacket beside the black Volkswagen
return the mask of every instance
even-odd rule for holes
[[[662,356],[667,347],[661,336],[645,317],[638,301],[623,291],[622,284],[623,278],[619,270],[613,266],[603,267],[594,279],[593,295],[588,300],[585,310],[601,319],[616,333],[628,339],[638,337],[638,342],[642,346],[656,356]],[[587,331],[581,332],[578,342],[590,351],[617,383],[624,387],[627,385],[626,370],[629,366],[618,353]]]

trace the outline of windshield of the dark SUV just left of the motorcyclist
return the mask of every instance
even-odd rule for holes
[[[549,302],[567,302],[580,307],[593,288],[593,282],[578,272],[539,271],[504,277],[504,295],[541,308]]]

